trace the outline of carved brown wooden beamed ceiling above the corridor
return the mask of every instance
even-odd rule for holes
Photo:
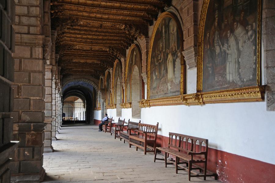
[[[99,78],[171,0],[51,0],[61,74]]]

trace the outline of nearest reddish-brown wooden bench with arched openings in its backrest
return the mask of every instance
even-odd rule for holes
[[[203,142],[205,146],[203,145]],[[156,158],[157,150],[165,152],[164,159]],[[206,180],[206,177],[210,176],[214,176],[215,180],[217,180],[217,174],[207,174],[207,152],[207,139],[169,132],[168,147],[156,148],[154,162],[156,162],[156,159],[164,160],[165,167],[167,167],[167,164],[174,164],[176,166],[176,174],[178,173],[178,170],[187,170],[189,181],[191,177],[204,177],[204,180]],[[176,159],[167,159],[169,154],[174,155]],[[198,166],[193,167],[192,165],[196,163],[203,163],[204,168]],[[181,166],[180,164],[186,164],[186,167]],[[201,173],[202,169],[204,169],[204,174],[198,174],[197,172],[192,171],[199,170]]]

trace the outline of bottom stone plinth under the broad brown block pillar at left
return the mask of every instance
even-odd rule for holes
[[[18,175],[11,175],[10,178],[11,183],[28,183],[28,182],[42,182],[45,178],[46,171],[44,168],[40,170],[37,174],[18,174]]]

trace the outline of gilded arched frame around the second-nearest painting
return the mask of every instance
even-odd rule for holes
[[[152,38],[150,40],[150,47],[149,47],[149,54],[148,54],[148,64],[147,64],[147,101],[151,100],[150,97],[150,82],[151,82],[151,56],[152,56],[152,50],[153,50],[153,43],[155,40],[155,36],[156,36],[156,31],[159,28],[159,25],[161,24],[161,22],[163,21],[163,19],[165,18],[171,18],[172,20],[174,20],[174,22],[176,23],[177,26],[177,31],[178,31],[178,36],[179,36],[179,44],[180,44],[180,87],[179,87],[179,95],[183,95],[185,92],[185,62],[184,62],[184,58],[182,56],[182,51],[183,51],[183,31],[182,31],[182,26],[178,20],[178,18],[176,17],[176,15],[174,15],[173,13],[170,12],[164,12],[160,15],[160,17],[158,17],[156,24],[153,28],[153,32],[152,32]],[[169,49],[169,48],[168,48]],[[158,98],[154,98],[153,100],[162,100],[162,99],[169,99],[169,98],[173,98],[174,96],[165,96],[165,97],[158,97]],[[162,106],[162,105],[173,105],[174,102],[171,100],[165,100],[167,101],[166,103],[156,103],[155,106]]]

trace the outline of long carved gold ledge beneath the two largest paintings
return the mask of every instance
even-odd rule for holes
[[[184,94],[158,99],[144,99],[139,101],[139,106],[145,108],[151,106],[192,106],[208,103],[258,102],[264,100],[264,93],[265,86],[252,86],[214,92]]]

